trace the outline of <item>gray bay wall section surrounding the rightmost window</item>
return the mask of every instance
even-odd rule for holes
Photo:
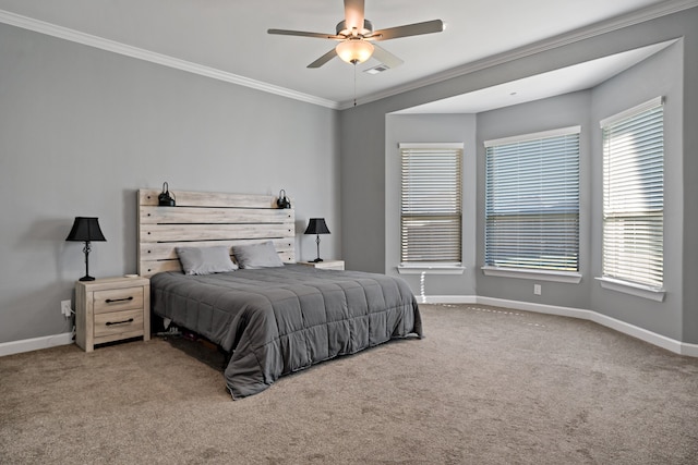
[[[698,23],[697,23],[698,24]],[[592,284],[590,308],[610,317],[630,322],[640,328],[682,340],[682,314],[695,313],[696,306],[684,306],[683,286],[690,286],[683,279],[684,231],[684,44],[678,41],[666,50],[650,57],[625,73],[594,88],[592,93],[592,248],[591,270],[601,276],[602,211],[603,211],[603,158],[600,152],[601,131],[599,121],[627,108],[664,96],[664,302],[618,294]],[[694,58],[695,59],[695,58]],[[695,123],[693,124],[696,127]],[[690,131],[690,130],[689,130]],[[694,131],[695,132],[695,131]],[[695,155],[694,155],[695,157]],[[690,213],[695,216],[694,212]],[[698,333],[695,333],[698,338]],[[694,342],[698,339],[694,340]]]

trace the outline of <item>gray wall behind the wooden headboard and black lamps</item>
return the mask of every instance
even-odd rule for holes
[[[0,24],[0,343],[71,330],[60,301],[84,274],[73,218],[99,217],[91,274],[136,271],[136,189],[277,194],[341,256],[335,110]]]

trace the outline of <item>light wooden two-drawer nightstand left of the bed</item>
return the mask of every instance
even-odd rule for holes
[[[75,342],[85,352],[95,344],[151,339],[151,280],[106,278],[75,285]]]

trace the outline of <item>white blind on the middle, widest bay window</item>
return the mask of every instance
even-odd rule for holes
[[[579,270],[580,131],[485,142],[485,265]]]

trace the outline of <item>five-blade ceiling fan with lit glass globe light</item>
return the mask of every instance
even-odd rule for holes
[[[345,20],[337,24],[336,34],[308,33],[303,30],[288,29],[268,29],[267,33],[281,36],[315,37],[339,41],[335,48],[313,61],[308,65],[308,68],[320,68],[335,57],[339,57],[347,63],[352,64],[363,63],[371,57],[375,57],[386,66],[395,68],[402,64],[402,60],[372,42],[397,39],[400,37],[419,36],[422,34],[441,33],[444,30],[444,22],[441,20],[373,30],[373,24],[371,24],[371,22],[363,15],[364,0],[344,0],[344,2]]]

